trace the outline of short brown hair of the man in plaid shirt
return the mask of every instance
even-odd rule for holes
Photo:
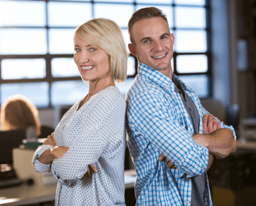
[[[137,23],[137,21],[139,21],[139,20],[150,19],[152,17],[162,17],[162,19],[164,19],[168,23],[167,18],[163,14],[162,10],[157,9],[155,7],[147,7],[147,8],[139,9],[133,13],[133,16],[130,17],[130,20],[128,23],[128,32],[130,34],[130,42],[131,43],[133,43],[135,45],[135,41],[131,34],[134,23]]]

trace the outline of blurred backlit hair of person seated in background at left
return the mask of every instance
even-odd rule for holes
[[[37,108],[20,94],[9,97],[2,105],[1,126],[2,130],[26,130],[33,126],[37,136],[41,134]]]

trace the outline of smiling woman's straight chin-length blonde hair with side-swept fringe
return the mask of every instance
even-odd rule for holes
[[[115,22],[104,18],[92,19],[77,27],[76,34],[110,56],[110,68],[115,80],[126,80],[128,54],[122,32]]]

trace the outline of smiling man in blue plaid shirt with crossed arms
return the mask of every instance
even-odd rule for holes
[[[213,156],[236,151],[233,127],[217,122],[172,74],[174,37],[161,10],[134,12],[128,31],[140,62],[126,94],[137,205],[212,205],[206,171]]]

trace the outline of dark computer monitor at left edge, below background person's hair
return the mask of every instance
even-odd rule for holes
[[[26,139],[25,130],[0,131],[0,165],[12,164],[12,149]]]

